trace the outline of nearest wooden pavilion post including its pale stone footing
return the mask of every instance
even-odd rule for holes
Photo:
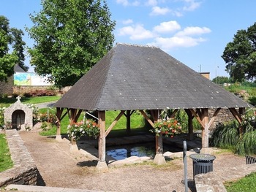
[[[98,111],[99,117],[99,139],[98,139],[98,150],[99,150],[99,161],[97,169],[101,172],[108,171],[106,164],[106,137],[105,137],[105,111]]]

